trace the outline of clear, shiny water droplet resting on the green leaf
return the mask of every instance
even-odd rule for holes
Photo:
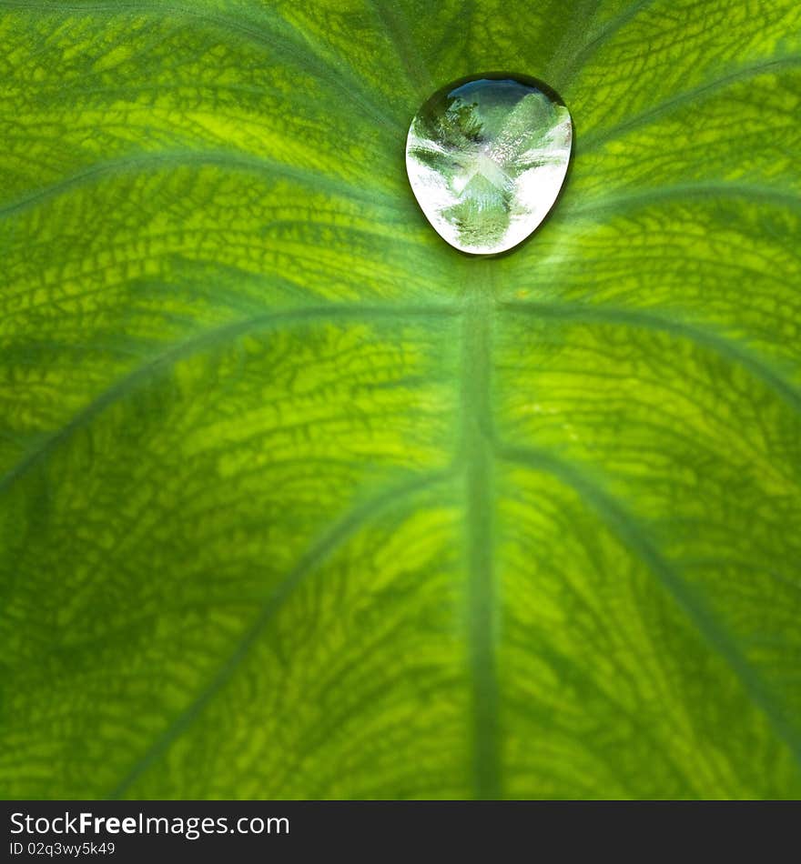
[[[422,212],[451,246],[497,255],[540,225],[562,188],[573,123],[527,75],[442,87],[411,121],[406,170]]]

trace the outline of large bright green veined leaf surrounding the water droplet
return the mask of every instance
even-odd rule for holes
[[[801,6],[0,3],[0,792],[801,795]],[[403,147],[575,123],[467,258]]]

